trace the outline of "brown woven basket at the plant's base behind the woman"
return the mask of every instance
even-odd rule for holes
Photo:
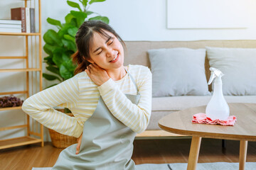
[[[72,113],[65,113],[65,114],[73,116]],[[50,139],[52,140],[53,147],[65,148],[77,143],[76,137],[63,135],[63,134],[60,134],[59,132],[56,132],[55,130],[51,130],[51,129],[48,129],[48,130],[50,132]]]

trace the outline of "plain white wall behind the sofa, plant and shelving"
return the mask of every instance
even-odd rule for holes
[[[78,1],[78,0],[73,0]],[[242,0],[241,0],[242,1]],[[246,0],[248,20],[246,29],[168,29],[166,0],[107,0],[90,6],[90,11],[100,13],[110,18],[110,25],[119,33],[123,40],[255,40],[256,39],[256,1]],[[244,2],[244,1],[242,1]],[[0,19],[10,19],[10,8],[19,7],[22,1],[0,1]],[[186,4],[184,4],[186,5]],[[232,6],[232,4],[230,4]],[[65,0],[41,0],[42,31],[55,29],[46,22],[46,18],[64,21],[65,15],[73,8]],[[196,10],[195,10],[196,12]],[[228,8],[227,8],[228,12]],[[189,15],[189,13],[183,13]],[[241,13],[241,15],[244,15]],[[177,18],[179,16],[176,16]],[[44,45],[44,42],[43,42]],[[0,36],[0,55],[24,55],[23,38]],[[46,54],[43,52],[43,57]],[[0,67],[23,67],[22,61],[0,62]],[[11,89],[23,90],[23,75],[0,73],[1,91]],[[46,81],[43,82],[47,86]],[[0,112],[0,127],[20,125],[25,117],[19,112]],[[18,133],[16,133],[18,132]],[[0,139],[23,135],[23,130],[0,132]]]

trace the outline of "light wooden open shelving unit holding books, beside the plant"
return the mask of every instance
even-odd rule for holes
[[[33,3],[31,3],[33,1]],[[21,69],[0,69],[0,74],[6,74],[8,72],[24,72],[26,74],[26,90],[24,91],[8,91],[1,92],[0,96],[7,96],[11,94],[23,94],[26,95],[26,98],[36,94],[38,91],[42,91],[42,35],[41,35],[41,0],[24,0],[24,7],[35,8],[35,12],[38,13],[38,21],[36,21],[36,26],[38,26],[38,33],[3,33],[0,32],[0,35],[6,36],[23,36],[24,37],[24,47],[26,48],[26,55],[24,56],[1,56],[1,60],[25,60],[26,67]],[[33,4],[33,5],[31,5]],[[37,4],[37,6],[36,6]],[[21,7],[21,6],[17,6]],[[31,40],[29,42],[29,40]],[[32,40],[36,43],[32,43]],[[35,52],[36,51],[36,52]],[[24,62],[25,62],[24,61]],[[1,80],[0,80],[1,81]],[[11,86],[11,84],[10,84]],[[0,86],[1,88],[1,86]],[[37,90],[36,90],[37,89]],[[21,106],[13,108],[0,108],[0,115],[3,111],[23,111]],[[23,113],[26,114],[26,113]],[[8,120],[6,120],[8,121]],[[43,147],[43,125],[36,122],[26,115],[26,123],[23,125],[15,125],[8,127],[1,127],[0,132],[4,130],[14,130],[26,128],[26,136],[15,137],[7,140],[0,139],[0,149],[6,149],[10,147],[18,147],[22,145],[30,145],[34,143],[41,143]]]

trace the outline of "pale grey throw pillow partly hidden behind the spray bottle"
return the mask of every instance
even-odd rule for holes
[[[206,47],[210,67],[223,74],[223,94],[256,95],[256,49]]]

